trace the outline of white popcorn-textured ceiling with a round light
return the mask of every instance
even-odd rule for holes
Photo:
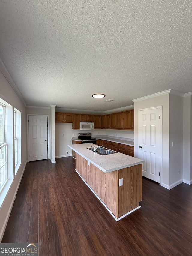
[[[105,111],[191,92],[192,1],[1,0],[0,58],[29,106]]]

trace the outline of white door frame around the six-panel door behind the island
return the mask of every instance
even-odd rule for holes
[[[142,109],[138,109],[138,129],[139,129],[139,111],[143,111],[143,110],[152,110],[152,109],[157,109],[159,108],[160,110],[160,160],[159,160],[159,163],[160,163],[160,166],[159,166],[159,172],[160,172],[160,179],[159,179],[159,185],[162,184],[162,146],[163,146],[163,143],[162,143],[162,139],[163,139],[163,136],[162,136],[162,119],[163,119],[163,106],[156,106],[156,107],[147,107],[147,108],[142,108]],[[138,132],[138,145],[139,146],[139,132]],[[139,152],[138,152],[138,157],[139,157]]]

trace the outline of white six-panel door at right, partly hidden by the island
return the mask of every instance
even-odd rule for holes
[[[162,160],[161,113],[161,106],[139,110],[138,113],[138,155],[145,160],[143,176],[158,183]]]

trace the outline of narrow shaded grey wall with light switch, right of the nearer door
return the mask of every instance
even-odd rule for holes
[[[170,188],[183,182],[183,97],[171,93],[169,176]]]

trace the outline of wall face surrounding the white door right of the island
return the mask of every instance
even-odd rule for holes
[[[161,170],[161,185],[169,188],[169,148],[170,148],[170,95],[164,94],[153,98],[143,99],[135,102],[135,157],[138,157],[138,110],[149,107],[162,106],[162,170]]]

